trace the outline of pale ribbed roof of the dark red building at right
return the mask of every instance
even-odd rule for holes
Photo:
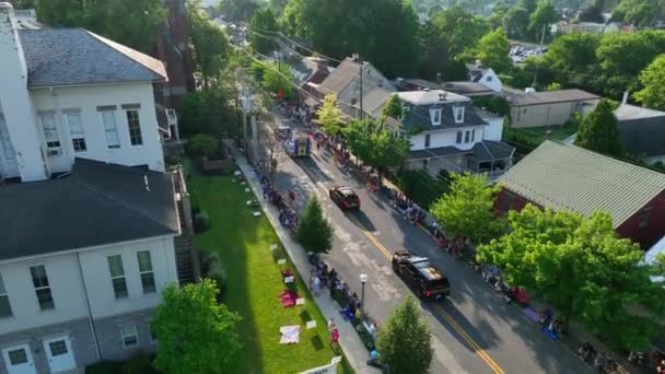
[[[583,215],[607,211],[615,227],[665,189],[665,174],[549,140],[499,180],[504,188],[556,211]]]

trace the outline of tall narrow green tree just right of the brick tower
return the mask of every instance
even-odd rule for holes
[[[208,90],[211,80],[218,80],[222,74],[230,48],[224,32],[199,8],[199,3],[187,3],[189,43],[194,65],[203,79],[203,89]]]

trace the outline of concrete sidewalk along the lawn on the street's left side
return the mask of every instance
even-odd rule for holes
[[[282,227],[279,223],[279,212],[277,209],[266,200],[261,199],[261,187],[259,180],[256,177],[256,173],[254,173],[254,168],[247,162],[243,155],[235,154],[235,162],[238,168],[245,175],[249,187],[253,189],[254,194],[259,197],[257,200],[261,204],[264,212],[277,235],[281,239],[284,249],[291,257],[291,261],[298,269],[298,272],[306,279],[310,273],[310,269],[312,269],[312,265],[307,258],[307,254],[305,250],[298,244],[291,235]],[[355,370],[355,373],[359,374],[368,374],[368,373],[378,373],[380,371],[375,367],[369,366],[366,364],[366,360],[370,358],[370,352],[368,352],[365,346],[360,340],[358,332],[348,322],[342,322],[339,318],[339,309],[340,307],[337,303],[329,297],[314,297],[316,305],[320,309],[322,314],[326,319],[329,317],[335,317],[335,320],[338,322],[337,328],[339,329],[339,342],[345,357],[349,361],[349,364]]]

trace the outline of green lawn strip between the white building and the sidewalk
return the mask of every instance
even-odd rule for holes
[[[246,207],[254,196],[230,176],[191,174],[188,182],[192,204],[210,215],[210,231],[195,237],[197,248],[220,254],[226,273],[225,303],[243,317],[238,330],[244,347],[230,373],[296,373],[330,362],[330,348],[325,318],[314,304],[305,284],[296,277],[295,289],[306,297],[305,305],[282,307],[279,294],[285,289],[280,271],[293,269],[268,220],[255,218]],[[269,246],[279,243],[276,252]],[[305,329],[315,319],[316,329]],[[279,343],[280,326],[301,325],[300,342]],[[345,361],[339,373],[352,373]]]

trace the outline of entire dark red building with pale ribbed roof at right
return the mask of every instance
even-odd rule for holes
[[[606,211],[617,232],[649,249],[665,235],[665,174],[546,140],[499,182],[499,213],[526,203],[585,217]]]

